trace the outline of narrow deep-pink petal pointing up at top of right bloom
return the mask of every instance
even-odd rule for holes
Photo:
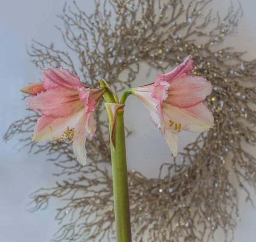
[[[172,81],[173,78],[181,76],[181,75],[189,75],[192,70],[195,68],[193,65],[194,60],[192,60],[191,56],[189,55],[183,63],[178,65],[174,70],[169,73],[163,75],[157,75],[157,80],[163,81]]]

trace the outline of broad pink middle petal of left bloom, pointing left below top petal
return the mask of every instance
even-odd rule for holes
[[[55,86],[38,93],[28,99],[27,106],[33,110],[40,109],[42,114],[53,117],[67,117],[84,108],[79,91],[64,86]]]

